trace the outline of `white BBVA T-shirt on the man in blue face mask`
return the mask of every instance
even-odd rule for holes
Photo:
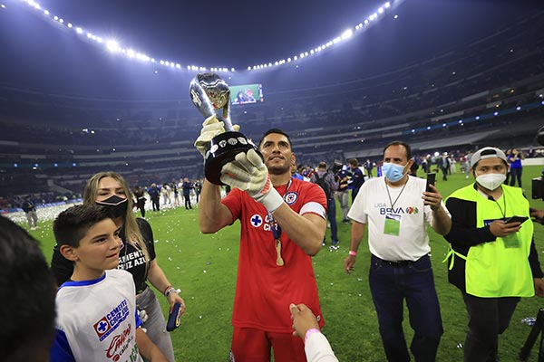
[[[347,216],[367,225],[368,246],[375,256],[391,262],[416,261],[431,251],[425,221],[432,225],[432,210],[423,205],[425,186],[423,178],[413,176],[408,176],[404,189],[386,186],[384,176],[361,186]],[[450,215],[443,202],[442,208]],[[398,236],[384,233],[387,215],[400,220]]]

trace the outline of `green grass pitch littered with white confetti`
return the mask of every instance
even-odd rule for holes
[[[530,179],[540,175],[542,167],[524,167],[523,183],[530,197]],[[440,180],[437,187],[442,196],[467,185],[472,179],[464,174],[454,174],[448,181]],[[541,200],[530,200],[531,205],[544,208]],[[342,219],[337,207],[337,218]],[[204,235],[199,232],[198,211],[178,209],[160,213],[149,212],[155,239],[158,262],[170,282],[181,289],[187,303],[181,326],[172,333],[179,361],[227,361],[232,326],[230,316],[236,284],[238,263],[239,224]],[[47,260],[51,259],[53,233],[51,222],[40,224],[32,233],[43,243]],[[368,288],[369,253],[365,242],[361,244],[355,271],[346,275],[343,261],[349,250],[350,225],[338,224],[340,248],[330,252],[324,247],[314,257],[321,308],[325,317],[324,333],[330,340],[336,356],[341,361],[384,361],[384,351],[378,333],[374,304]],[[327,241],[330,241],[327,230]],[[544,226],[535,225],[535,237],[541,262],[544,262]],[[437,360],[459,362],[464,342],[467,314],[461,293],[447,281],[446,264],[442,259],[448,244],[442,236],[430,230],[432,262],[436,289],[442,307],[444,335]],[[159,297],[163,310],[165,298]],[[503,361],[518,360],[518,353],[530,328],[520,319],[535,317],[544,300],[521,300],[510,328],[500,337],[500,357]],[[288,308],[288,306],[286,306]],[[407,311],[405,312],[407,317]],[[404,331],[408,343],[412,338],[407,318]],[[538,347],[529,360],[536,360]]]

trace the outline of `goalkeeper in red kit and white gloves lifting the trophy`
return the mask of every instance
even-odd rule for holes
[[[222,132],[216,116],[206,119],[195,142],[203,156]],[[295,153],[284,131],[267,130],[258,148],[262,159],[250,149],[222,167],[221,182],[232,187],[224,199],[220,186],[204,181],[199,226],[216,233],[240,221],[231,360],[269,361],[273,349],[276,362],[306,361],[288,307],[304,303],[324,325],[311,256],[325,235],[325,193],[291,177]]]

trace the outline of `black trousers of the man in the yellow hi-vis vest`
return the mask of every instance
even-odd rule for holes
[[[520,297],[480,298],[461,293],[469,313],[464,361],[498,361],[499,335],[508,328]]]

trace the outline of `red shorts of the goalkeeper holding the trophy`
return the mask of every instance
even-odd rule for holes
[[[270,348],[276,362],[306,362],[304,343],[291,333],[265,332],[260,329],[234,328],[231,357],[236,362],[268,362]]]

